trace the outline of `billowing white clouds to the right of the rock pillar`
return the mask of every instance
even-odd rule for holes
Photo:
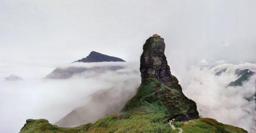
[[[226,71],[220,76],[215,73]],[[197,109],[201,117],[214,118],[219,122],[241,127],[250,133],[255,133],[256,111],[255,100],[248,101],[256,93],[256,75],[251,76],[249,81],[242,86],[227,87],[235,81],[238,75],[237,69],[256,70],[256,64],[241,63],[232,65],[228,63],[204,64],[191,66],[181,85],[183,93],[197,103]]]

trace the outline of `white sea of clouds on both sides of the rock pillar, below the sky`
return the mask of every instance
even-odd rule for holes
[[[120,89],[125,81],[137,79],[132,88],[140,83],[139,63],[135,62],[101,62],[68,63],[43,65],[19,65],[0,70],[0,132],[20,131],[26,119],[45,118],[55,123],[77,107],[84,106],[89,95],[100,89],[109,89],[116,85]],[[56,67],[105,67],[122,66],[122,69],[104,72],[84,72],[68,79],[44,79]],[[220,76],[215,73],[226,71]],[[252,76],[241,87],[227,87],[239,78],[237,69],[249,69],[256,72],[256,64],[240,63],[232,65],[219,61],[191,65],[184,71],[171,69],[179,79],[183,93],[197,103],[201,117],[214,118],[219,122],[238,126],[254,133],[256,129],[255,101],[248,101],[256,92],[256,76]],[[23,81],[4,81],[4,77],[15,74]]]

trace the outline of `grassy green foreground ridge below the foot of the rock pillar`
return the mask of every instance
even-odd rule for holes
[[[170,125],[161,121],[162,113],[128,112],[114,114],[95,123],[74,128],[62,128],[50,124],[47,120],[28,119],[21,133],[178,133]],[[175,122],[175,127],[183,133],[247,133],[244,129],[219,123],[210,118]]]

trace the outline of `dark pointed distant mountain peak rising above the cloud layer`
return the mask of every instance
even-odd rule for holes
[[[82,58],[81,60],[77,60],[74,62],[110,62],[110,61],[126,62],[121,58],[104,55],[104,54],[101,54],[101,53],[95,52],[95,51],[91,51],[90,54],[88,56],[86,56],[85,58]]]

